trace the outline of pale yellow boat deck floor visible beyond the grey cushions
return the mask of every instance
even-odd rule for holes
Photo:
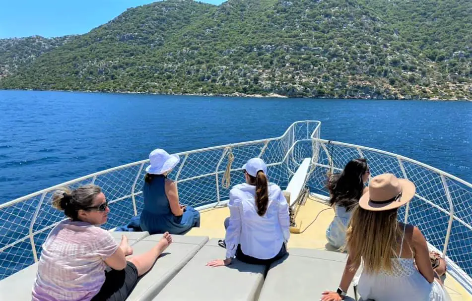
[[[227,207],[202,210],[201,216],[200,228],[193,228],[186,235],[208,236],[210,239],[224,238],[225,230],[223,222],[224,219],[229,216],[229,209]],[[301,233],[290,234],[288,247],[334,251],[335,249],[330,247],[325,238],[326,229],[333,220],[333,217],[334,211],[331,210],[329,206],[310,197],[305,204],[301,206],[296,217],[297,225],[301,225]],[[337,285],[338,283],[333,283],[333,288],[336,288]],[[448,277],[446,277],[444,285],[453,301],[472,301],[472,296],[452,276],[448,275]]]

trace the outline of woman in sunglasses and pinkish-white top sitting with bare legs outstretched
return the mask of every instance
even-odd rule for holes
[[[118,244],[100,228],[110,208],[100,187],[93,184],[56,191],[53,206],[67,219],[43,243],[33,301],[125,301],[138,277],[172,242],[164,233],[149,251],[127,260],[133,249],[126,236]]]

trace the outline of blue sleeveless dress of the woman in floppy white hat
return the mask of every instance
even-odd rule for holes
[[[192,227],[200,227],[200,212],[187,206],[181,216],[175,216],[170,210],[165,193],[165,177],[155,177],[151,183],[144,182],[142,188],[144,209],[140,217],[142,231],[149,234],[182,234]]]

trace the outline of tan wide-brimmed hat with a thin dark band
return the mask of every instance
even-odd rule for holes
[[[383,174],[372,178],[369,190],[359,200],[359,206],[369,211],[395,209],[409,202],[414,193],[415,186],[411,181]]]

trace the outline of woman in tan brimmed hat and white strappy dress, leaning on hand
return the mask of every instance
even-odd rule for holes
[[[431,266],[428,246],[417,227],[398,222],[398,208],[414,196],[415,186],[392,174],[374,177],[359,200],[346,234],[349,253],[337,292],[323,292],[322,301],[340,301],[361,261],[358,292],[363,300],[446,301],[440,276],[444,259]]]

